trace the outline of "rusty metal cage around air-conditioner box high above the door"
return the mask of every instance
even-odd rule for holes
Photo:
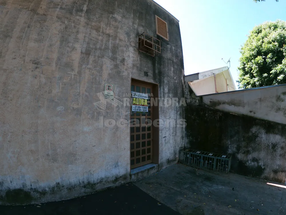
[[[161,41],[143,32],[138,36],[138,50],[154,57],[161,53]]]

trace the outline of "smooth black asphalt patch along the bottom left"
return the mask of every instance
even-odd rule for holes
[[[81,198],[41,205],[0,206],[0,215],[179,215],[129,183]]]

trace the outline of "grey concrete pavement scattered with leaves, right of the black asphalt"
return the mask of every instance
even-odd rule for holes
[[[266,183],[177,164],[134,184],[181,214],[286,214],[284,188]]]

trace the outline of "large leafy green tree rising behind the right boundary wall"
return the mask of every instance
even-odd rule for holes
[[[239,89],[286,83],[286,22],[255,26],[241,47]]]

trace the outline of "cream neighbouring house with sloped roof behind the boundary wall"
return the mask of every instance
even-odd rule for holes
[[[236,90],[229,67],[186,75],[184,78],[196,95]]]

